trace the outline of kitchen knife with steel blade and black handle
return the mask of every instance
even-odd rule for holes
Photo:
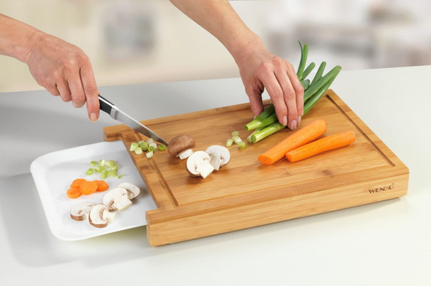
[[[167,145],[167,142],[164,141],[160,136],[158,136],[156,133],[151,131],[150,128],[147,128],[147,126],[143,125],[139,121],[133,119],[128,114],[126,114],[124,111],[121,111],[115,104],[113,104],[111,101],[108,101],[108,99],[102,97],[99,94],[99,104],[100,104],[100,110],[105,111],[109,116],[111,116],[113,119],[116,119],[117,121],[121,121],[125,125],[129,126],[133,130],[152,138],[153,140],[162,143],[164,145]]]

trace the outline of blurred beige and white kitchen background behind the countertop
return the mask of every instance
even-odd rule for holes
[[[267,48],[297,67],[431,65],[430,0],[230,1]],[[227,50],[167,0],[0,0],[0,13],[78,45],[99,86],[239,77]],[[0,55],[0,92],[42,89]]]

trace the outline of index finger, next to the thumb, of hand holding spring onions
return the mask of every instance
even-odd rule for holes
[[[277,119],[279,123],[284,126],[287,125],[287,106],[284,101],[283,89],[281,88],[279,82],[277,81],[274,72],[266,72],[261,76],[260,80],[267,89],[269,97],[272,99],[272,104],[274,104],[275,111],[277,114]]]

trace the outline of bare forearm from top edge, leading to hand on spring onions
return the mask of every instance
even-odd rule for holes
[[[227,0],[170,1],[214,35],[235,59],[246,45],[262,45],[262,40],[242,22]]]

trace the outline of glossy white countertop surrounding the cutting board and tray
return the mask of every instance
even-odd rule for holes
[[[103,141],[47,92],[0,94],[2,285],[431,285],[431,66],[341,72],[332,89],[403,160],[408,195],[168,246],[145,227],[52,236],[29,172],[40,155]],[[101,87],[136,119],[240,104],[240,79]]]

